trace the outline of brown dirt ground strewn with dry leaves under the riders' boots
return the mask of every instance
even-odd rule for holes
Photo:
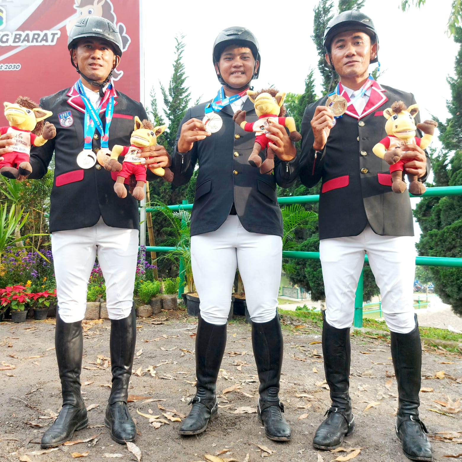
[[[274,451],[268,461],[332,461],[345,453],[320,452],[311,446],[316,427],[328,407],[328,390],[323,384],[322,350],[320,332],[316,328],[298,327],[284,329],[285,351],[281,379],[281,400],[286,406],[286,418],[292,426],[292,441],[276,443],[267,439],[257,420],[255,411],[258,382],[252,353],[250,327],[243,322],[228,326],[227,346],[219,374],[219,416],[207,431],[197,437],[181,438],[177,431],[179,422],[169,422],[162,415],[168,410],[184,415],[189,412],[187,398],[194,395],[195,361],[194,334],[196,320],[183,318],[183,312],[171,313],[178,319],[167,319],[162,313],[148,321],[138,320],[137,357],[134,361],[129,393],[155,400],[141,400],[129,404],[136,416],[139,436],[137,446],[144,461],[204,461],[204,454],[216,454],[228,449],[223,458],[249,462],[261,460],[263,445]],[[157,321],[156,321],[157,319]],[[90,438],[87,443],[61,446],[59,449],[29,459],[24,453],[40,450],[43,431],[50,425],[49,417],[61,407],[60,383],[56,367],[54,347],[54,319],[28,321],[25,324],[0,323],[0,460],[18,461],[70,461],[71,453],[85,451],[89,455],[82,460],[101,461],[108,454],[122,454],[132,458],[124,445],[111,440],[103,426],[103,416],[109,396],[110,365],[109,322],[87,324],[84,340],[85,369],[82,372],[82,389],[89,411],[90,426],[76,432],[73,439]],[[157,323],[156,323],[157,322]],[[161,323],[163,322],[163,323]],[[289,321],[290,322],[290,321]],[[394,413],[397,406],[395,378],[389,346],[381,339],[352,336],[351,395],[356,415],[356,428],[346,439],[345,448],[362,448],[354,461],[407,461],[402,455],[394,435]],[[101,355],[98,363],[98,355]],[[423,354],[422,386],[429,391],[421,394],[421,416],[433,438],[435,460],[450,460],[444,455],[462,453],[462,432],[456,435],[441,434],[461,431],[461,413],[444,415],[430,409],[445,412],[446,407],[435,403],[456,402],[462,397],[462,356],[444,351],[426,349]],[[150,366],[153,366],[150,368]],[[157,366],[157,367],[156,367]],[[148,371],[146,371],[148,370]],[[438,375],[444,378],[436,378]],[[139,374],[139,375],[137,375]],[[152,375],[153,374],[153,375]],[[236,389],[223,390],[236,385]],[[239,388],[241,387],[241,388]],[[298,395],[298,396],[297,396]],[[159,409],[164,407],[165,410]],[[456,405],[457,406],[457,405]],[[460,404],[459,404],[460,407]],[[242,409],[245,408],[245,409]],[[365,410],[367,408],[367,410]],[[146,417],[137,415],[137,409],[145,414],[160,415],[169,422],[154,428]],[[151,410],[151,412],[150,412]],[[248,410],[251,413],[239,413]],[[177,417],[177,415],[176,415]],[[443,436],[446,437],[442,438]],[[266,453],[267,454],[267,453]]]

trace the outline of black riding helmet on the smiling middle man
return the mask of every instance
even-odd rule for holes
[[[243,47],[248,47],[252,51],[252,55],[254,56],[255,59],[255,66],[256,62],[259,61],[261,64],[261,57],[260,57],[260,47],[258,45],[258,41],[252,32],[250,32],[249,29],[246,29],[245,27],[239,27],[239,26],[233,26],[233,27],[227,27],[226,29],[222,30],[217,38],[215,39],[215,43],[213,43],[213,65],[219,63],[220,61],[220,56],[223,53],[223,50],[232,45],[233,43],[236,43],[238,45],[242,45]],[[254,75],[252,79],[258,79],[258,74],[260,73],[260,66],[255,72],[254,68]],[[221,75],[218,75],[218,80],[220,84],[225,84],[223,79],[221,78]],[[249,86],[250,82],[247,83],[247,85],[243,86],[242,89],[247,88]],[[227,85],[227,84],[226,84]],[[241,90],[237,88],[236,90]]]

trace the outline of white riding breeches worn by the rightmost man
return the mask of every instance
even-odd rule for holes
[[[412,236],[379,236],[367,225],[358,236],[322,239],[319,251],[326,320],[332,327],[352,325],[355,292],[367,253],[389,329],[401,334],[413,330],[416,250]]]

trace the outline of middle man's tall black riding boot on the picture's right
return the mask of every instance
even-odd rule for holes
[[[278,314],[269,322],[252,322],[252,346],[260,379],[257,415],[265,435],[274,441],[289,441],[292,436],[282,415],[284,404],[279,401],[283,345]]]

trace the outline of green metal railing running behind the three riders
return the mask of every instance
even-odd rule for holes
[[[421,196],[413,196],[410,194],[410,197],[435,197],[435,196],[453,196],[453,195],[462,195],[462,186],[442,186],[435,188],[427,188],[426,192]],[[278,202],[283,204],[308,204],[316,203],[319,201],[319,195],[310,195],[310,196],[286,196],[278,197]],[[183,201],[179,205],[170,205],[168,206],[170,210],[180,211],[180,210],[191,210],[194,204],[188,204],[188,201]],[[155,207],[147,207],[146,212],[154,212]],[[147,246],[146,251],[148,252],[168,252],[169,250],[175,250],[175,247],[162,247],[162,246]],[[283,257],[287,258],[300,258],[307,260],[319,260],[319,252],[298,252],[292,250],[285,250],[282,252]],[[365,255],[364,261],[368,261],[367,255]],[[182,270],[180,262],[180,285],[184,285],[184,279],[182,280]],[[462,258],[454,257],[428,257],[428,256],[418,256],[415,259],[415,264],[419,266],[444,266],[444,267],[462,267]],[[355,293],[355,302],[354,302],[354,327],[363,327],[363,272],[359,277],[358,287]],[[183,292],[181,288],[181,293]],[[181,295],[180,290],[178,291],[178,296]]]

